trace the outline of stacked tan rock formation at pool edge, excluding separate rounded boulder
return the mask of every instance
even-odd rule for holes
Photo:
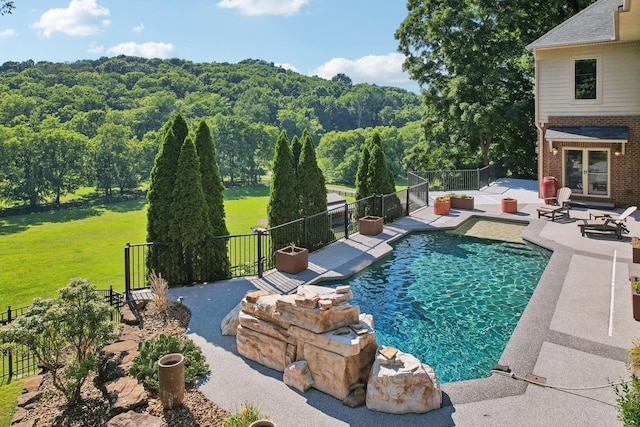
[[[378,348],[372,317],[360,315],[352,297],[349,286],[249,293],[238,316],[238,353],[281,372],[290,367],[285,382],[301,391],[310,385],[344,400],[366,384]]]

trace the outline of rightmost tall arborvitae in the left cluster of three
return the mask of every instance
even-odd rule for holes
[[[209,212],[212,236],[227,236],[224,212],[224,185],[216,163],[216,147],[211,130],[202,119],[196,130],[196,151],[200,159],[202,189]],[[219,279],[229,275],[227,239],[209,239],[202,248],[202,258],[206,260],[201,276],[204,280]]]

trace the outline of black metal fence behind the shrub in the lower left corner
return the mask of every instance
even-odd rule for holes
[[[109,289],[97,289],[98,295],[110,306],[111,320],[120,322],[120,309],[125,304],[125,294]],[[30,306],[11,308],[0,312],[0,326],[7,325],[29,313]],[[5,378],[21,377],[37,372],[39,369],[36,357],[24,346],[16,346],[6,352],[0,351],[0,382]]]

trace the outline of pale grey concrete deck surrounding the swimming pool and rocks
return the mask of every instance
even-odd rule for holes
[[[500,180],[479,192],[474,211],[452,210],[436,216],[426,207],[384,228],[375,237],[355,234],[310,256],[298,276],[270,271],[262,279],[232,279],[173,288],[192,311],[188,335],[205,353],[211,375],[199,385],[221,407],[235,411],[245,402],[258,405],[279,426],[619,426],[611,382],[628,379],[625,349],[640,338],[633,320],[629,289],[629,236],[640,236],[640,214],[629,218],[628,236],[582,237],[576,219],[538,219],[542,204],[537,183]],[[432,197],[438,194],[431,194]],[[504,214],[500,200],[518,199],[518,213]],[[523,236],[553,250],[540,282],[497,363],[518,375],[532,373],[554,386],[544,388],[502,375],[442,385],[444,404],[426,414],[391,415],[350,409],[315,389],[300,393],[282,382],[282,373],[240,357],[235,337],[222,336],[223,317],[250,290],[287,293],[302,283],[350,275],[388,253],[389,242],[414,230],[455,228],[468,218],[493,217],[528,222]],[[437,372],[436,372],[437,374]],[[582,388],[605,386],[590,390]]]

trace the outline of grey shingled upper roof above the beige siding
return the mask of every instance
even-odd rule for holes
[[[529,44],[527,49],[615,40],[614,11],[622,5],[623,0],[598,0]]]

